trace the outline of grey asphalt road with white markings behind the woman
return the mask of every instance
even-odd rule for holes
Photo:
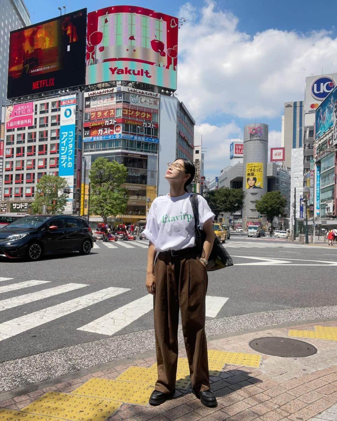
[[[0,392],[153,349],[152,302],[144,285],[147,242],[123,244],[97,243],[89,256],[73,253],[34,263],[0,258],[0,384],[7,380]],[[328,310],[331,317],[337,246],[231,234],[225,247],[235,265],[209,273],[209,335],[229,326],[235,331],[247,323],[268,325],[273,318],[271,324],[309,320]],[[60,368],[57,359],[64,355]],[[43,358],[51,356],[55,367],[49,371],[8,380],[10,367],[22,371],[30,361],[38,372]]]

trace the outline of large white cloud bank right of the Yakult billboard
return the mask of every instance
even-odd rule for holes
[[[304,99],[305,77],[334,72],[337,43],[326,31],[300,34],[268,29],[253,37],[212,0],[179,11],[178,95],[197,122],[214,114],[281,116],[284,102]],[[281,122],[280,122],[281,125]]]

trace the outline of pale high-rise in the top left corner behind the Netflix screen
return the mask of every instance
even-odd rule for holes
[[[23,0],[0,0],[0,109],[7,98],[9,33],[30,25]]]

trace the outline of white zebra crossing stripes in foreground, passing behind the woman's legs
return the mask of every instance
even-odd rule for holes
[[[8,280],[8,284],[6,284]],[[3,284],[0,286],[0,312],[11,311],[15,309],[15,316],[10,320],[0,322],[0,342],[5,339],[13,338],[19,334],[25,333],[30,329],[39,328],[50,322],[57,322],[62,317],[69,314],[85,311],[90,307],[90,314],[94,314],[92,306],[99,305],[104,301],[107,303],[107,308],[113,306],[113,300],[119,295],[124,295],[124,302],[127,301],[128,295],[132,292],[130,288],[108,287],[94,292],[88,292],[93,285],[70,282],[62,285],[53,285],[51,281],[44,280],[27,280],[13,282],[13,278],[1,278]],[[48,286],[49,288],[36,290],[39,286]],[[33,292],[29,292],[29,288],[34,288]],[[24,294],[21,294],[24,290]],[[69,297],[72,291],[80,290],[81,295],[77,298]],[[17,296],[1,299],[1,294],[15,291]],[[131,294],[134,296],[134,293]],[[51,305],[50,299],[54,297],[62,297],[62,302]],[[206,296],[206,317],[215,318],[226,304],[227,297]],[[55,301],[53,301],[54,303]],[[37,311],[27,311],[27,304],[38,304],[42,309]],[[21,307],[17,309],[17,307]],[[30,306],[32,309],[33,306]],[[126,328],[131,323],[139,320],[153,309],[153,296],[151,294],[144,294],[136,300],[130,300],[127,304],[119,308],[107,312],[107,314],[94,318],[86,324],[80,325],[81,315],[76,314],[73,318],[73,328],[83,332],[92,332],[102,334],[105,336],[112,336],[118,333],[123,328]],[[7,313],[7,312],[6,312]],[[14,310],[13,310],[14,313]],[[7,313],[8,314],[8,313]],[[10,313],[9,313],[10,314]],[[87,317],[86,312],[86,317]],[[7,316],[8,317],[8,316]],[[1,321],[1,317],[0,317]]]

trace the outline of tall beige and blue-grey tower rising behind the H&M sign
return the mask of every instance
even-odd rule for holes
[[[284,165],[291,167],[292,149],[301,148],[304,131],[304,101],[284,103],[281,126],[281,146],[285,149]]]

